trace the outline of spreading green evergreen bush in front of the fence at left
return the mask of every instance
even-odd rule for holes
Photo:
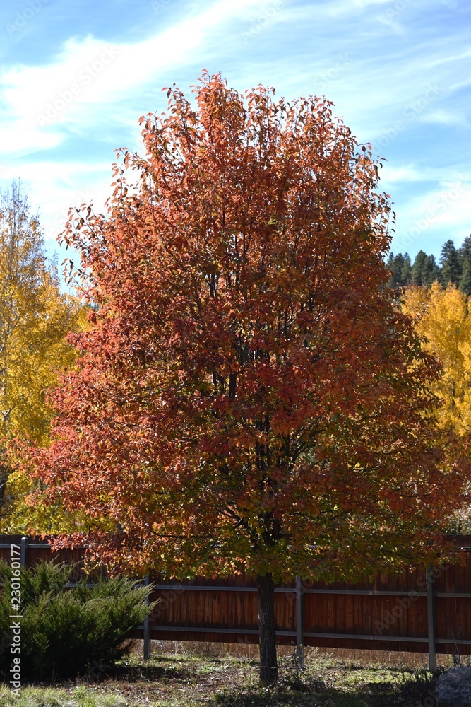
[[[38,563],[20,571],[21,677],[55,679],[102,672],[129,650],[126,636],[152,611],[152,587],[138,587],[129,579],[86,580],[66,589],[73,567]],[[11,679],[10,645],[11,568],[0,562],[4,587],[0,597],[0,674]]]

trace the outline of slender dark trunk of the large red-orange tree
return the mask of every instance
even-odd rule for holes
[[[264,685],[273,685],[278,678],[275,644],[275,585],[270,573],[257,577],[256,583],[260,631],[260,681]]]

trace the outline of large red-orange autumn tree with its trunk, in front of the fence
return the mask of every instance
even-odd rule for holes
[[[98,309],[29,463],[45,503],[95,523],[57,542],[130,573],[251,573],[269,683],[275,584],[448,556],[467,467],[430,416],[438,363],[385,288],[369,146],[325,99],[208,74],[195,93],[141,119],[108,214],[71,214]]]

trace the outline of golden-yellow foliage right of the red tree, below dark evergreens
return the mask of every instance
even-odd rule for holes
[[[403,312],[415,318],[424,349],[443,364],[443,377],[433,385],[442,401],[439,423],[463,434],[471,429],[471,317],[468,298],[454,285],[410,286]]]

